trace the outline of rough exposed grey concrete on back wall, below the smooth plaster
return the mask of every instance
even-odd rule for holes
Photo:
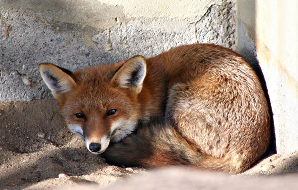
[[[232,26],[228,27],[232,22],[229,21],[230,8],[230,5],[212,4],[195,22],[188,22],[187,19],[127,17],[128,20],[123,21],[121,17],[114,17],[113,25],[107,29],[45,18],[43,15],[46,12],[9,9],[8,14],[2,11],[1,18],[6,19],[1,24],[5,22],[12,29],[7,37],[0,40],[3,55],[0,57],[0,100],[53,98],[39,76],[37,66],[41,62],[74,71],[103,63],[116,63],[135,55],[152,57],[185,44],[211,42],[231,47],[233,30]],[[0,27],[1,33],[3,29],[5,27]],[[28,81],[24,79],[24,84],[17,71],[30,76],[28,80],[37,85],[26,86]]]

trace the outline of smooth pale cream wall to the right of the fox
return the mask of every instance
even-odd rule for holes
[[[237,46],[264,74],[277,152],[298,150],[298,1],[238,0]]]

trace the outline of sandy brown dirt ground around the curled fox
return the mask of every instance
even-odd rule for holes
[[[0,102],[0,189],[53,189],[145,174],[110,166],[67,129],[55,100]],[[240,176],[298,173],[298,152],[272,155]]]

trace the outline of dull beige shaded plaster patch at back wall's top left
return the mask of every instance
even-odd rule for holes
[[[111,6],[98,0],[1,0],[6,9],[33,10],[48,21],[81,24],[82,27],[110,28],[125,22],[122,6]]]

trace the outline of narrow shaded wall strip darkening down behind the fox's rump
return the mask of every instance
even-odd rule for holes
[[[273,112],[271,107],[271,101],[268,94],[268,89],[263,75],[261,66],[257,58],[256,45],[254,39],[256,39],[255,27],[256,27],[256,0],[250,0],[248,2],[237,0],[236,2],[237,9],[237,48],[238,53],[243,56],[247,62],[253,67],[257,76],[259,77],[263,91],[268,101],[270,115],[271,115],[271,134],[272,139],[270,146],[265,153],[265,157],[271,154],[276,153],[276,138],[275,138],[275,129],[274,129],[274,120]],[[239,13],[241,12],[241,14]],[[245,24],[241,19],[245,20]]]

